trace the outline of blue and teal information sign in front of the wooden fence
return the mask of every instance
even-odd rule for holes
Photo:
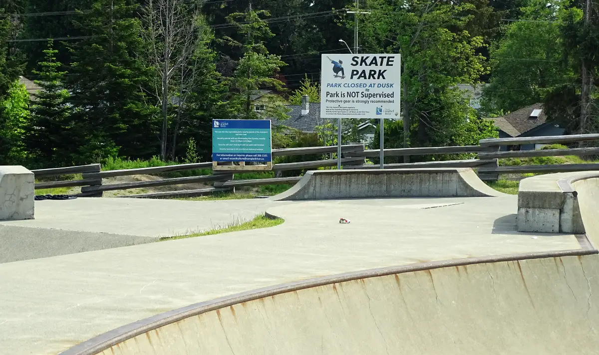
[[[213,162],[271,162],[270,120],[212,120]]]

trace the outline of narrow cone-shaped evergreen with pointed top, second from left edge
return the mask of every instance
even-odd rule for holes
[[[41,71],[34,71],[38,78],[35,83],[41,90],[35,94],[31,107],[31,131],[27,139],[35,160],[52,167],[72,165],[76,150],[71,108],[67,104],[69,93],[63,84],[66,71],[59,70],[62,64],[56,60],[57,53],[53,41],[48,41],[46,57],[39,63]]]

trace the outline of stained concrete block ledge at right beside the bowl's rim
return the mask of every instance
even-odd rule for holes
[[[585,233],[575,181],[599,173],[561,172],[525,178],[518,189],[519,232]]]

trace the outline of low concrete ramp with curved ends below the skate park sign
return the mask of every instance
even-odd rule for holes
[[[274,201],[397,197],[503,196],[470,168],[317,170]]]

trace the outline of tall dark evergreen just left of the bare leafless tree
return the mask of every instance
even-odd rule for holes
[[[128,0],[98,0],[75,22],[89,36],[72,45],[66,81],[80,147],[78,162],[119,153],[149,158],[158,152],[156,112],[142,91],[149,68],[137,57],[144,46],[137,8]]]

